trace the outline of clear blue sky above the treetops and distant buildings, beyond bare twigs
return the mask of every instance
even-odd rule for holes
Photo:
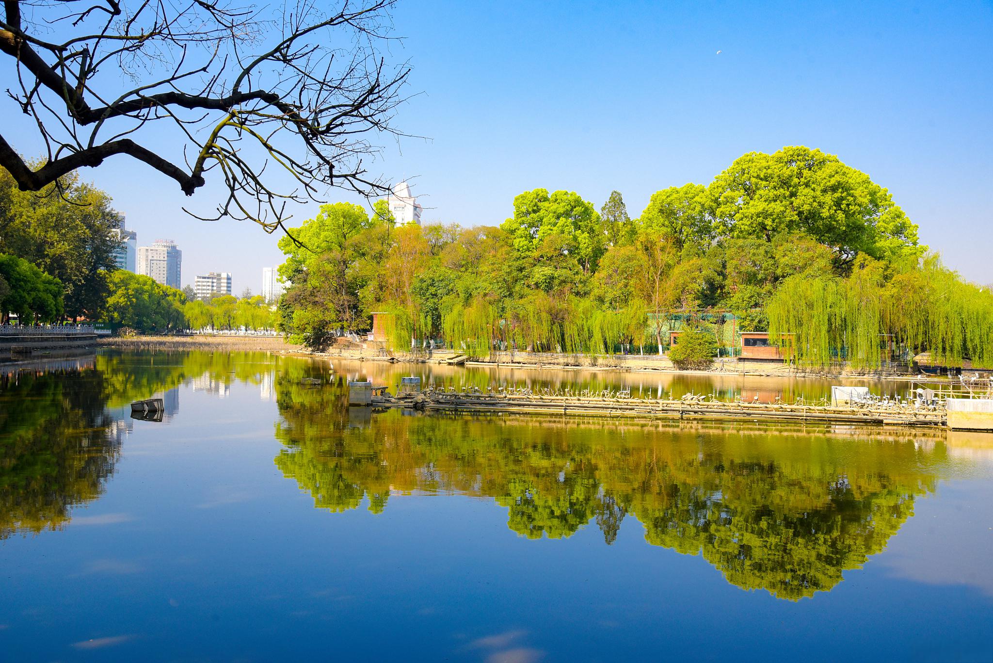
[[[598,208],[617,189],[637,216],[658,189],[802,144],[868,173],[924,244],[993,283],[989,2],[401,0],[394,24],[405,39],[388,56],[410,62],[408,91],[420,92],[397,123],[429,139],[383,141],[370,170],[414,178],[425,221],[496,225],[537,187]],[[280,261],[255,227],[180,210],[209,209],[210,190],[188,200],[123,158],[84,176],[114,196],[139,245],[177,241],[185,283],[217,269],[257,291]],[[292,225],[315,212],[301,207]]]

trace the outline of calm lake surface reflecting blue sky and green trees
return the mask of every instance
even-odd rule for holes
[[[369,414],[409,368],[335,368],[0,367],[0,660],[993,660],[993,436]]]

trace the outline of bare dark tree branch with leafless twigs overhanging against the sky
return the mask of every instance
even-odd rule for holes
[[[375,136],[403,135],[392,120],[409,69],[379,55],[393,39],[394,0],[276,10],[234,1],[4,0],[0,66],[20,85],[7,95],[35,120],[48,160],[25,161],[0,135],[0,166],[39,191],[76,168],[131,157],[188,196],[222,181],[213,215],[194,216],[269,232],[288,219],[288,202],[320,200],[330,187],[387,191],[362,164],[378,154]],[[175,154],[151,147],[164,139]]]

